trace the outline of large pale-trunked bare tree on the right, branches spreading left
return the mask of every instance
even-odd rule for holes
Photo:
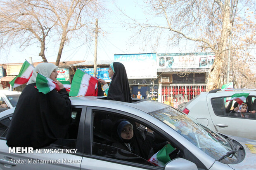
[[[178,45],[180,41],[192,41],[200,51],[212,51],[215,60],[209,72],[206,90],[220,88],[223,74],[224,59],[227,55],[228,37],[232,32],[232,26],[237,23],[231,22],[230,16],[237,19],[236,7],[250,7],[250,1],[237,0],[147,0],[145,1],[147,22],[141,23],[136,19],[128,23],[130,28],[136,29],[136,36],[142,40],[152,40],[154,43],[163,40],[163,35],[168,35],[168,42]],[[254,2],[253,2],[254,3]],[[253,6],[251,6],[253,7]],[[244,12],[240,9],[239,12]],[[231,15],[232,14],[232,15]],[[127,15],[126,15],[127,16]],[[128,16],[129,17],[129,16]],[[242,16],[240,16],[242,17]],[[243,18],[247,20],[246,18]]]

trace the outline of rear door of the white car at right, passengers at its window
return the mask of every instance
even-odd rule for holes
[[[206,98],[211,120],[217,132],[256,140],[255,115],[251,118],[242,118],[226,112],[228,102],[225,101],[230,95],[222,97],[207,95]]]

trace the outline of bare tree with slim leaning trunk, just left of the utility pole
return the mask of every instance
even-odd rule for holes
[[[59,65],[64,44],[75,35],[73,32],[78,31],[77,37],[83,35],[85,36],[84,39],[87,36],[93,36],[95,17],[100,12],[103,13],[104,7],[95,0],[69,0],[65,2],[63,0],[43,0],[43,3],[46,4],[45,8],[54,15],[52,19],[57,21],[56,29],[60,44],[55,65]]]

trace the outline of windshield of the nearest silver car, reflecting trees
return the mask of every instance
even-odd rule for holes
[[[225,140],[225,138],[192,121],[186,114],[176,109],[169,107],[149,114],[166,123],[196,147],[216,160],[225,155],[228,151],[233,150],[230,143]],[[237,154],[233,154],[220,162],[232,163],[237,159],[236,156]]]

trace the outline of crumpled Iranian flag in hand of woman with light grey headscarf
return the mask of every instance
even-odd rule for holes
[[[39,92],[42,92],[44,94],[49,93],[55,88],[57,91],[60,90],[56,82],[54,82],[50,78],[47,78],[41,75],[40,73],[37,73],[37,76],[36,76],[36,88],[38,89]]]

